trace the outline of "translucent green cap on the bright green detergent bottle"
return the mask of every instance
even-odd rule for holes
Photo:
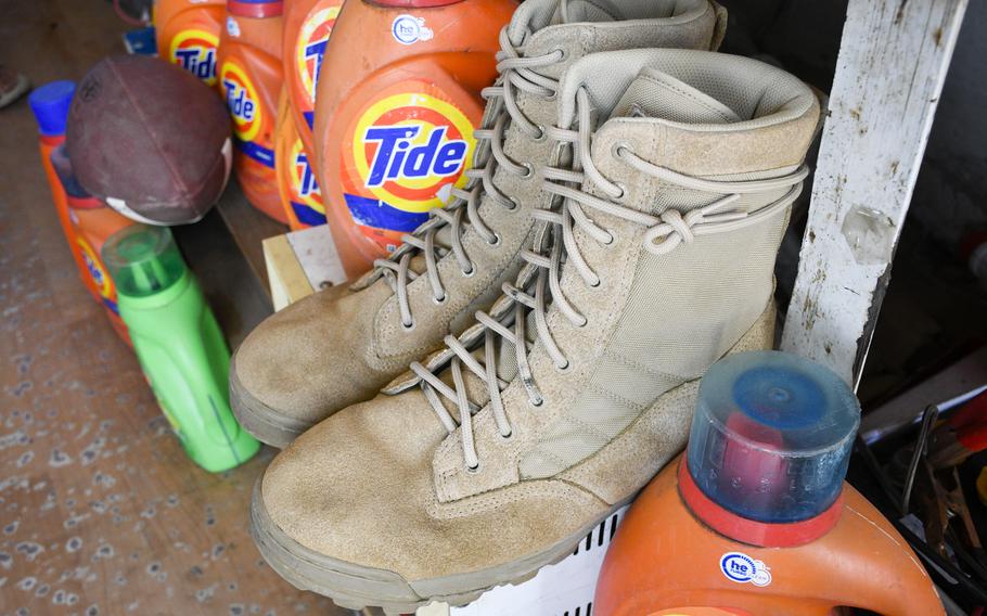
[[[117,293],[146,297],[178,282],[185,262],[167,227],[132,224],[106,240],[101,251]]]

